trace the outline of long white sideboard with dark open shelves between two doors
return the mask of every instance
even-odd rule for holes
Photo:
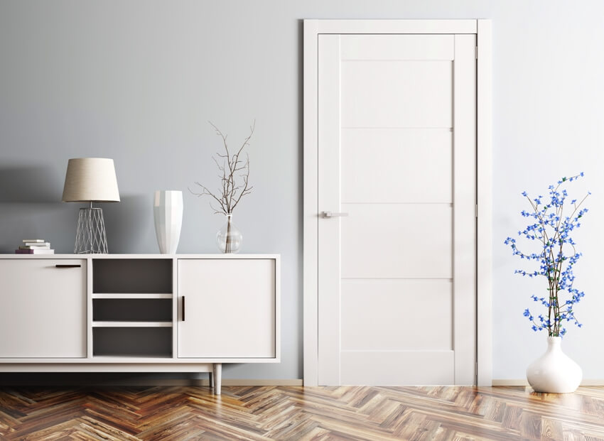
[[[0,371],[210,372],[280,361],[274,254],[0,255]]]

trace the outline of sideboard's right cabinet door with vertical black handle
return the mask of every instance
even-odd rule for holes
[[[179,358],[274,358],[274,260],[178,259],[178,295]]]

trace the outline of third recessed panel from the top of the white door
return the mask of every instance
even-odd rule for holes
[[[452,278],[451,204],[343,204],[342,278]],[[327,223],[329,219],[324,219]]]

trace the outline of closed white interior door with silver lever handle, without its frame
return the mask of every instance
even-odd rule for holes
[[[475,35],[318,43],[318,382],[475,383]]]

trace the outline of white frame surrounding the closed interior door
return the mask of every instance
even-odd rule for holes
[[[476,35],[477,384],[492,385],[492,67],[490,20],[304,20],[303,382],[318,385],[318,36]]]

